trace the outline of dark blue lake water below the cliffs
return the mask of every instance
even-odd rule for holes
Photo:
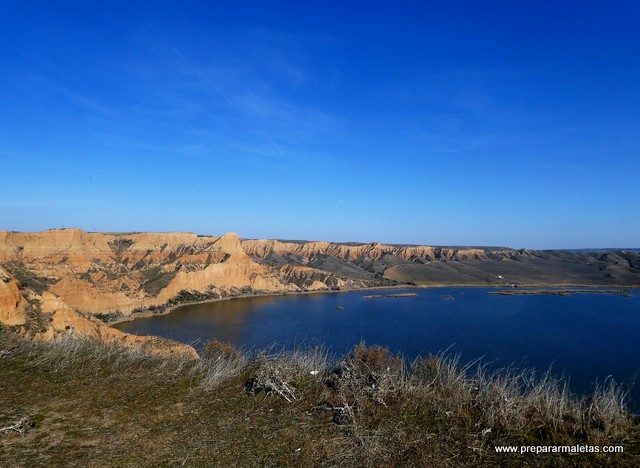
[[[185,306],[116,328],[195,344],[237,347],[323,344],[336,354],[360,340],[418,355],[459,353],[491,368],[514,365],[570,378],[586,392],[611,376],[631,385],[640,373],[640,292],[631,297],[487,294],[484,288],[432,288],[252,297]],[[372,294],[415,297],[363,299]],[[447,297],[448,296],[448,297]],[[343,307],[338,310],[337,307]],[[640,389],[631,388],[634,407]]]

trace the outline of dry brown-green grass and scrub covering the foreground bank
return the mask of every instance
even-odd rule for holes
[[[364,343],[336,358],[213,342],[194,360],[0,330],[0,428],[24,429],[0,434],[0,465],[638,466],[624,397]],[[494,449],[524,444],[625,452]]]

